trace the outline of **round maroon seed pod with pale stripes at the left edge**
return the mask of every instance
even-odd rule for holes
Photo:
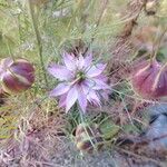
[[[33,66],[26,59],[6,58],[0,63],[2,89],[8,94],[18,94],[29,89],[35,81]]]

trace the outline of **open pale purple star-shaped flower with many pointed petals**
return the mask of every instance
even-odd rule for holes
[[[109,86],[107,77],[102,75],[104,63],[92,63],[91,53],[84,58],[63,53],[63,66],[51,63],[48,67],[50,75],[61,82],[50,92],[51,97],[59,97],[59,106],[66,111],[78,101],[80,109],[86,112],[88,102],[100,106],[100,98],[107,98]]]

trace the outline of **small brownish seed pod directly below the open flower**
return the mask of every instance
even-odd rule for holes
[[[100,150],[104,146],[104,139],[97,125],[78,125],[76,129],[76,145],[79,150],[89,154]]]

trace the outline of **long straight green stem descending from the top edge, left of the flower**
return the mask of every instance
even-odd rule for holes
[[[37,19],[36,19],[36,16],[35,16],[33,4],[32,4],[31,0],[28,0],[28,3],[29,3],[29,11],[30,11],[32,27],[33,27],[33,30],[35,30],[37,46],[38,46],[38,55],[39,55],[41,68],[42,68],[42,71],[43,71],[43,78],[45,78],[46,86],[48,87],[48,80],[47,80],[47,75],[46,75],[46,69],[45,69],[43,57],[42,57],[41,37],[40,37],[40,32],[39,32],[38,24],[37,24]]]

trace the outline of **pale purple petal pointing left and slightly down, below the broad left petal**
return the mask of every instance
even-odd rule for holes
[[[67,84],[59,84],[53,90],[50,91],[50,96],[61,96],[70,89],[70,86]]]

